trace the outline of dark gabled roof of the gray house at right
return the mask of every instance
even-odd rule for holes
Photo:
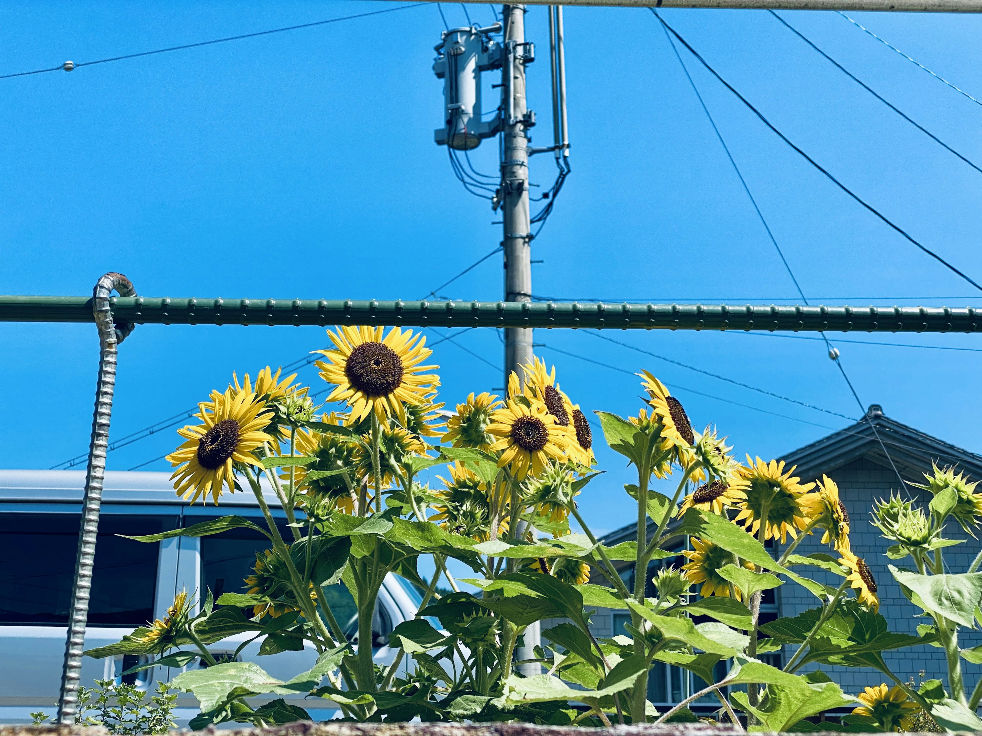
[[[889,458],[884,447],[890,453]],[[903,479],[915,483],[923,482],[923,473],[930,472],[932,461],[938,465],[957,465],[973,480],[982,480],[982,455],[900,424],[884,416],[883,407],[876,403],[870,405],[857,423],[811,445],[798,447],[781,459],[797,466],[794,475],[812,479],[860,457],[888,468],[893,459]]]

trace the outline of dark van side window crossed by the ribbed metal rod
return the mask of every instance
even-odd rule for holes
[[[89,626],[139,626],[153,620],[158,543],[118,534],[175,529],[178,517],[103,514],[95,545]],[[66,624],[79,549],[80,514],[0,516],[0,623]]]

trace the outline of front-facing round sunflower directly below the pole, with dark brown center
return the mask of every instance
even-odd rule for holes
[[[546,405],[530,401],[524,406],[509,399],[504,408],[491,415],[488,434],[499,438],[488,447],[492,452],[503,450],[498,467],[510,466],[517,480],[524,480],[529,471],[538,475],[546,468],[549,458],[565,459],[570,447],[570,435],[565,427],[556,424]]]

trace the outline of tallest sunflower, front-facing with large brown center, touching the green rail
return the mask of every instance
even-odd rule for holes
[[[420,375],[437,367],[420,365],[433,352],[424,337],[394,327],[383,339],[383,332],[364,325],[328,330],[337,349],[315,351],[330,361],[316,362],[320,377],[337,386],[327,400],[347,401],[353,423],[374,412],[383,424],[390,415],[405,424],[405,404],[425,403],[432,387],[440,385],[435,374]]]

